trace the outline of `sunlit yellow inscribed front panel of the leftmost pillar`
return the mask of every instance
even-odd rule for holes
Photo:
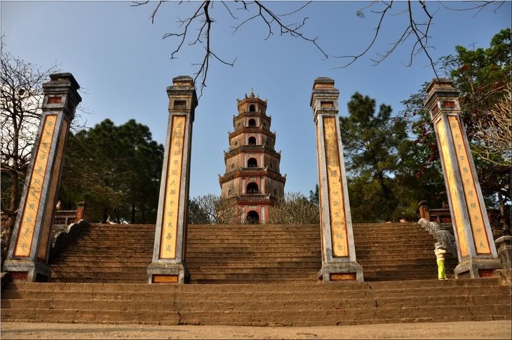
[[[47,115],[44,118],[43,129],[37,145],[36,157],[34,159],[34,168],[30,174],[29,189],[25,198],[20,229],[16,240],[13,256],[28,257],[32,247],[32,238],[36,227],[36,218],[41,202],[41,191],[43,190],[44,176],[48,166],[48,155],[50,153],[51,142],[53,140],[53,131],[55,130],[56,115]]]

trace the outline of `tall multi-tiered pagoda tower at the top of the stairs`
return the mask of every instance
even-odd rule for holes
[[[276,198],[284,196],[286,175],[281,176],[281,151],[276,152],[276,134],[270,132],[267,100],[250,92],[236,100],[234,132],[229,132],[229,151],[224,151],[226,172],[219,177],[221,197],[234,199],[242,223],[266,223]]]

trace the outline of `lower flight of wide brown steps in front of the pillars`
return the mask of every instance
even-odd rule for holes
[[[510,320],[497,278],[372,283],[8,283],[2,322],[328,326]]]

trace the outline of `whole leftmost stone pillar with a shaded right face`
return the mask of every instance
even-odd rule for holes
[[[43,84],[43,116],[20,200],[4,271],[13,280],[48,281],[50,230],[55,214],[69,124],[81,102],[70,73],[50,75]]]

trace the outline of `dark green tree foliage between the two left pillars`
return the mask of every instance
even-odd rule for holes
[[[70,135],[60,200],[68,208],[85,200],[87,217],[106,222],[156,221],[163,145],[135,120],[116,126],[109,119]]]

